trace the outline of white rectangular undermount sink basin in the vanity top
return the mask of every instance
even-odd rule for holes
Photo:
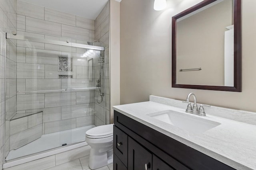
[[[221,124],[216,121],[203,119],[195,115],[189,115],[173,110],[164,110],[149,113],[147,115],[165,123],[179,127],[180,129],[197,134],[204,133]]]

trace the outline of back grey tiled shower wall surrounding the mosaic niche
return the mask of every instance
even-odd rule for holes
[[[17,35],[74,43],[94,41],[94,20],[17,1]],[[73,40],[72,40],[73,39]],[[17,41],[17,91],[94,87],[84,49]],[[72,72],[58,71],[58,56],[73,57]],[[33,71],[34,70],[34,71]],[[72,75],[59,79],[58,75]],[[42,134],[94,124],[94,91],[18,93],[17,113],[43,111]],[[18,124],[16,125],[19,126]]]

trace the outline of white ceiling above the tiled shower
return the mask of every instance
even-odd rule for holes
[[[21,0],[95,20],[108,0]],[[116,0],[120,2],[121,0]]]

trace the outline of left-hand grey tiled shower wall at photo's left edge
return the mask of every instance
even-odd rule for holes
[[[0,1],[0,169],[9,151],[9,120],[16,113],[16,41],[4,39],[4,32],[16,31],[16,0]],[[5,65],[6,60],[6,65]],[[6,68],[6,69],[5,69]],[[6,70],[6,76],[5,76]],[[5,79],[6,78],[6,79]],[[6,91],[5,91],[6,90]],[[14,90],[14,91],[13,91]],[[4,113],[5,111],[5,113]],[[6,121],[4,121],[6,119]],[[6,130],[6,133],[4,131]],[[5,136],[4,136],[5,134]]]

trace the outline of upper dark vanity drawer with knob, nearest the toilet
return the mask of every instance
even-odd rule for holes
[[[114,141],[113,141],[113,149],[114,154],[124,163],[127,167],[127,158],[128,158],[128,135],[118,129],[114,125]]]

